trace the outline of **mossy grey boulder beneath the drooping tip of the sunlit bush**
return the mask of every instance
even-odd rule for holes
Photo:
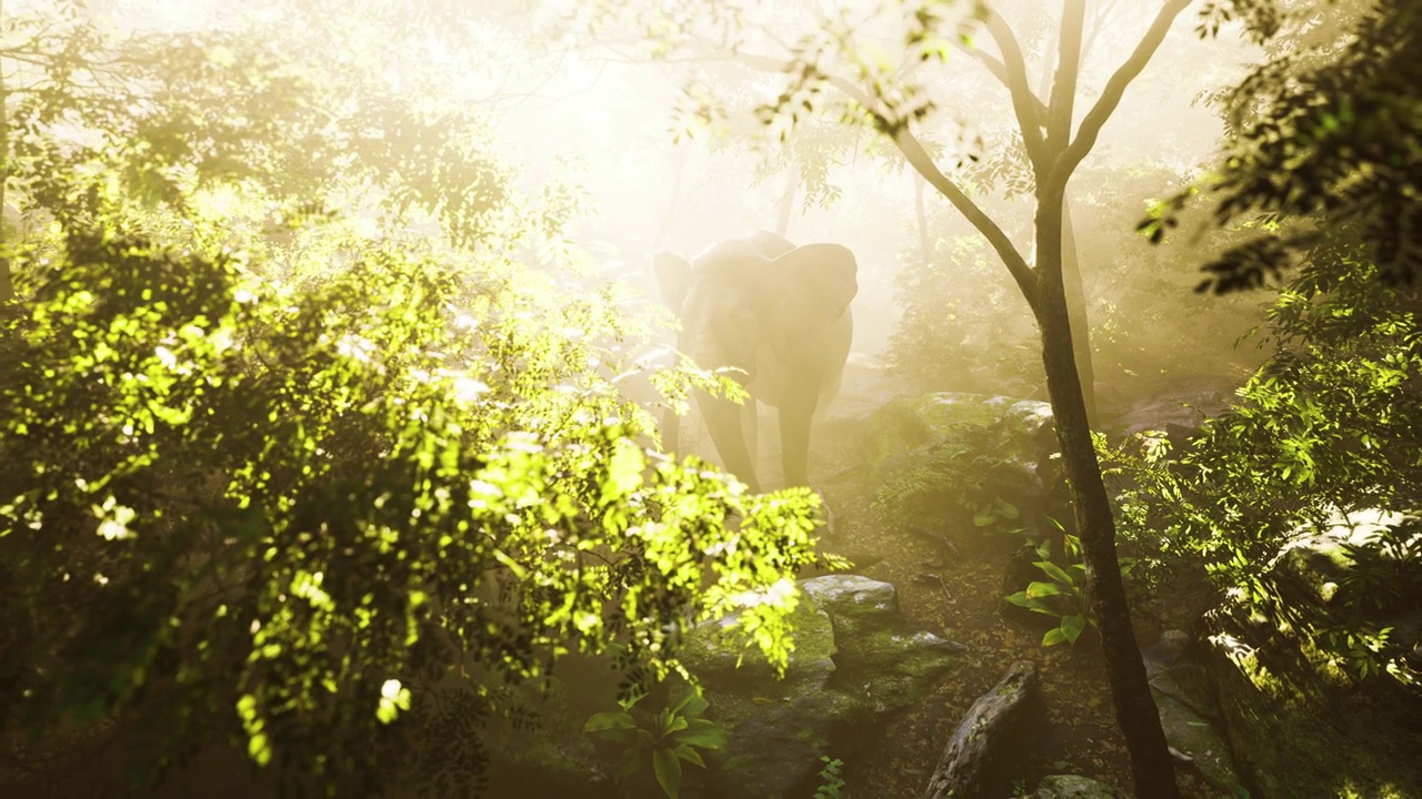
[[[727,731],[707,796],[811,793],[820,755],[846,758],[869,745],[873,731],[924,697],[963,651],[914,628],[889,583],[835,574],[805,580],[801,590],[784,680],[758,655],[728,645],[722,626],[698,628],[683,650],[705,687],[708,715]]]

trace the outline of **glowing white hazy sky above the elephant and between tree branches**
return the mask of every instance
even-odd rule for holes
[[[10,7],[14,9],[11,0]],[[215,0],[95,0],[91,13],[115,27],[156,26],[198,28],[215,24],[222,14],[250,10],[256,4],[228,4]],[[535,3],[483,3],[471,9],[508,13]],[[1054,30],[1044,9],[1057,3],[1008,6],[1010,21],[1022,41],[1028,74],[1042,75],[1048,38],[1032,31]],[[1118,0],[1092,3],[1109,7],[1095,34],[1088,33],[1078,92],[1078,118],[1096,100],[1101,85],[1139,40],[1155,13],[1152,3]],[[1017,17],[1011,17],[1017,14]],[[694,253],[729,236],[757,227],[774,229],[785,193],[785,175],[769,175],[754,185],[761,155],[744,144],[717,145],[694,141],[673,145],[673,108],[688,67],[684,64],[631,63],[607,50],[570,53],[530,38],[533,20],[523,26],[474,26],[468,47],[478,50],[479,68],[459,74],[449,90],[468,102],[488,105],[502,152],[522,169],[522,181],[539,186],[550,179],[572,179],[584,186],[594,213],[579,227],[579,237],[606,260],[621,262],[616,269],[643,276],[657,249]],[[523,36],[528,41],[519,41]],[[975,43],[995,55],[991,40]],[[431,38],[422,58],[442,61],[458,57]],[[1076,189],[1102,165],[1167,165],[1187,173],[1207,162],[1217,146],[1220,124],[1199,94],[1237,80],[1254,57],[1236,37],[1200,41],[1193,33],[1192,13],[1177,21],[1148,70],[1132,84],[1112,121],[1102,131],[1091,158],[1078,172]],[[951,144],[953,128],[941,122],[961,121],[971,134],[981,134],[987,148],[1008,146],[1015,121],[1005,90],[985,70],[961,53],[947,65],[934,67],[934,84],[943,111],[929,136]],[[749,75],[749,73],[747,73]],[[1189,80],[1182,80],[1182,78]],[[752,77],[761,98],[774,95],[772,78]],[[1038,81],[1039,82],[1039,81]],[[402,85],[391,75],[392,91]],[[748,98],[749,95],[741,95]],[[991,152],[984,152],[991,156]],[[796,243],[832,240],[849,246],[860,263],[860,297],[856,309],[863,323],[856,348],[882,351],[892,330],[893,274],[904,252],[913,252],[914,185],[906,171],[889,171],[870,158],[863,145],[839,154],[829,182],[840,191],[838,202],[825,209],[802,209],[796,199],[788,235]],[[1160,186],[1163,196],[1173,186]],[[1142,196],[1142,208],[1148,196]],[[943,220],[934,233],[964,233],[947,205],[929,193],[930,219]],[[1025,200],[1012,206],[1022,219],[1031,213]],[[1122,220],[1132,225],[1133,220]],[[947,226],[944,226],[947,225]],[[1025,250],[1027,247],[1024,247]]]

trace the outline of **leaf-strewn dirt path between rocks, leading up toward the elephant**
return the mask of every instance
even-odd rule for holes
[[[1037,663],[1044,709],[1034,738],[1022,742],[1012,793],[1028,793],[1052,773],[1129,790],[1130,762],[1115,724],[1099,638],[1088,628],[1075,645],[1044,647],[1045,627],[1003,613],[1008,562],[1022,539],[978,530],[944,530],[943,537],[892,530],[870,508],[873,486],[863,485],[853,468],[853,434],[829,427],[816,431],[812,465],[812,475],[826,475],[820,490],[833,510],[823,549],[853,560],[853,573],[892,583],[902,613],[914,624],[967,647],[953,677],[894,719],[879,741],[843,758],[845,796],[921,795],[963,715],[1022,658]],[[1197,590],[1199,584],[1167,584],[1150,608],[1136,608],[1139,644],[1186,624],[1187,611],[1169,608],[1199,607]],[[1216,795],[1193,769],[1179,768],[1177,779],[1182,796]]]

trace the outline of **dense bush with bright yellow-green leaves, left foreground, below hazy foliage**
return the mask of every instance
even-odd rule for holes
[[[650,459],[566,341],[448,324],[452,277],[371,252],[266,294],[71,236],[0,418],[11,722],[164,712],[156,684],[173,745],[236,708],[257,763],[371,779],[368,738],[459,653],[528,678],[616,638],[665,671],[685,624],[774,596],[744,633],[784,665],[812,495]]]

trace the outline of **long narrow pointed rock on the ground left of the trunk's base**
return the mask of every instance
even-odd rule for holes
[[[1037,699],[1037,665],[1020,660],[991,691],[978,697],[943,748],[923,799],[1000,796],[1005,782],[994,779],[1004,761],[1018,752]]]

